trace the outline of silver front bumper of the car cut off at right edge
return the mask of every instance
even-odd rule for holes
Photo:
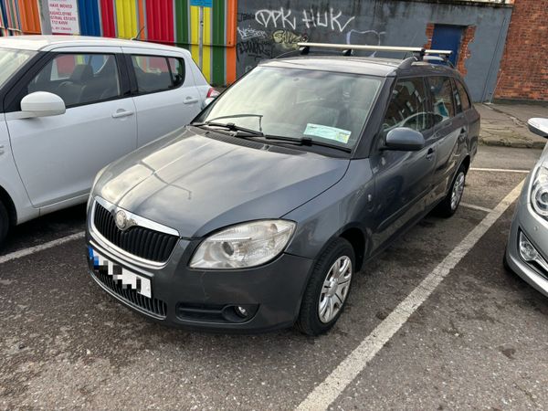
[[[529,185],[528,180],[523,186],[522,195],[520,195],[516,207],[505,258],[512,271],[548,297],[548,272],[537,264],[525,261],[519,250],[519,238],[520,232],[522,232],[544,259],[548,256],[548,222],[532,209],[529,200]]]

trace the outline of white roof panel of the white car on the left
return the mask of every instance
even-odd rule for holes
[[[164,46],[162,44],[147,43],[139,40],[123,40],[110,37],[87,36],[14,36],[0,37],[0,47],[18,48],[23,50],[49,51],[56,47],[79,46],[111,46],[111,47],[139,47],[154,50],[187,52],[184,48]]]

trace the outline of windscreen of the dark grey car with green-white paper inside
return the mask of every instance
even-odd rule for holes
[[[329,71],[258,67],[196,121],[232,122],[265,135],[352,148],[382,81]]]

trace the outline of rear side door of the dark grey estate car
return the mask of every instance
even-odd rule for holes
[[[468,133],[462,110],[458,112],[456,91],[447,76],[427,78],[434,111],[434,136],[436,139],[436,169],[433,176],[433,200],[443,198],[460,165],[460,152]]]

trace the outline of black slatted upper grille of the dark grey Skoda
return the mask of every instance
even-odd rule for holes
[[[178,237],[146,227],[134,226],[125,231],[116,227],[114,216],[99,203],[95,204],[93,224],[102,237],[114,246],[154,262],[165,262],[171,256]]]

